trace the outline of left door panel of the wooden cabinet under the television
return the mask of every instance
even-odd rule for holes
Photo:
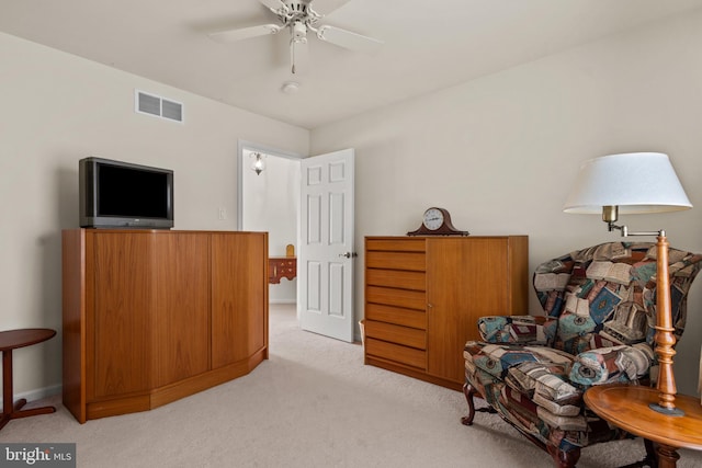
[[[90,265],[86,276],[94,278],[94,334],[88,342],[87,365],[94,379],[88,383],[88,399],[148,390],[151,274],[145,259],[151,254],[149,237],[97,232],[88,236],[90,241],[94,250],[87,249],[86,255],[92,253],[92,259],[86,259]]]

